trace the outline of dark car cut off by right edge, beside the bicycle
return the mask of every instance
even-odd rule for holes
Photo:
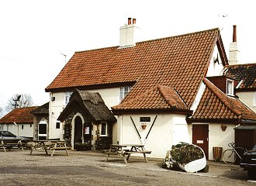
[[[242,157],[240,167],[247,171],[252,179],[256,179],[256,146],[252,150],[248,150]]]

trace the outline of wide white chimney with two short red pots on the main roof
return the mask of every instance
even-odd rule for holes
[[[128,25],[120,27],[119,48],[134,47],[136,45],[136,19],[128,18]]]

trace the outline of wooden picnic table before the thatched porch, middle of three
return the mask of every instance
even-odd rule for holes
[[[50,155],[51,157],[54,156],[55,150],[65,150],[67,153],[67,150],[71,149],[71,147],[68,147],[66,145],[66,141],[64,140],[33,140],[32,143],[29,145],[29,148],[30,155],[32,155],[33,150],[36,148],[43,149],[47,155],[49,154],[48,150],[53,150],[53,152]]]

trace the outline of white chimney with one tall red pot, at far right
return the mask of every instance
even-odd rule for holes
[[[238,64],[238,53],[237,49],[237,26],[233,26],[233,42],[230,43],[230,59],[229,64]]]

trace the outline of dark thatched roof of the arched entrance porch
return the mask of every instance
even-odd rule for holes
[[[73,108],[78,108],[80,106],[82,110],[88,114],[88,117],[94,122],[106,121],[106,122],[116,122],[116,118],[112,115],[109,108],[105,105],[102,97],[99,93],[92,93],[89,91],[79,91],[75,89],[71,98],[64,108],[58,120],[61,122],[67,118]]]

